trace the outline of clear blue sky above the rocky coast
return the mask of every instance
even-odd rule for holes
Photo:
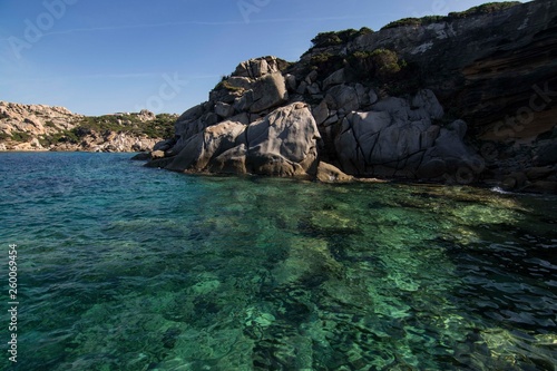
[[[0,100],[87,116],[182,114],[250,58],[481,0],[0,0]]]

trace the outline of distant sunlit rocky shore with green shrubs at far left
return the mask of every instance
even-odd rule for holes
[[[130,126],[155,120],[147,110],[86,118],[63,107],[0,101],[0,150],[152,150],[163,137],[149,137],[137,127],[133,133]],[[111,124],[110,129],[102,124]]]

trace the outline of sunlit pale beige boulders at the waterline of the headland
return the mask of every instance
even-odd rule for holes
[[[166,167],[212,172],[306,176],[317,160],[317,126],[304,104],[291,104],[245,126],[224,121],[192,136]]]

